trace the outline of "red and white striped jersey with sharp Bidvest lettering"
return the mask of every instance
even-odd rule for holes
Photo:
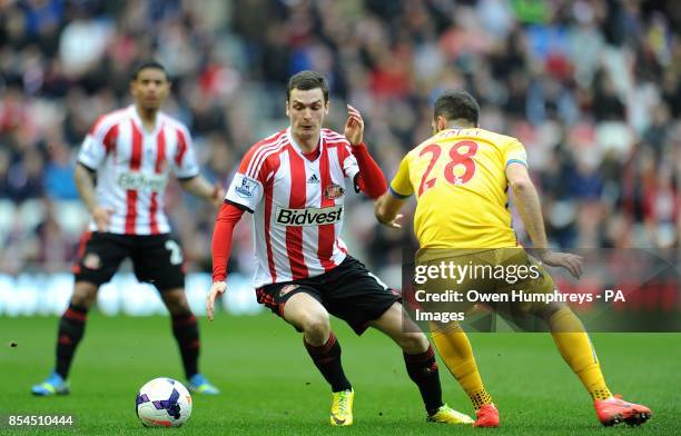
[[[349,143],[329,129],[313,161],[288,129],[250,148],[226,200],[254,214],[254,287],[318,276],[345,259],[345,182],[358,172]]]

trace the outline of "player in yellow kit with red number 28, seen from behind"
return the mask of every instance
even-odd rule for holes
[[[525,286],[535,294],[552,293],[553,280],[542,264],[565,268],[579,278],[582,258],[549,248],[523,145],[515,138],[480,128],[478,113],[477,102],[464,90],[446,91],[435,101],[433,137],[404,157],[388,191],[376,200],[376,218],[387,226],[399,227],[397,212],[415,195],[414,230],[421,248],[417,264],[447,256],[471,265],[522,264],[535,268],[539,278],[516,283],[516,287]],[[513,189],[514,201],[541,262],[520,247],[511,222],[509,188]],[[500,285],[490,289],[504,290]],[[561,355],[593,398],[603,425],[621,422],[638,425],[651,417],[648,407],[611,395],[589,336],[570,307],[561,303],[515,307],[511,303],[510,306],[491,305],[504,315],[531,314],[547,324]],[[476,408],[475,425],[499,426],[499,410],[482,383],[471,344],[461,326],[451,323],[445,328],[434,324],[432,327],[441,357]]]

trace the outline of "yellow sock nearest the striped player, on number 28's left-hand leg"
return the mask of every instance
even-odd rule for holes
[[[483,386],[477,371],[473,348],[463,329],[460,326],[450,327],[447,331],[433,329],[433,341],[450,373],[471,398],[473,407],[478,409],[481,406],[492,404],[492,397]]]

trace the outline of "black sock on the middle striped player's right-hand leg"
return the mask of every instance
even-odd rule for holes
[[[428,415],[433,415],[443,405],[440,373],[433,347],[430,346],[427,351],[417,355],[405,353],[404,363],[409,378],[418,386]]]

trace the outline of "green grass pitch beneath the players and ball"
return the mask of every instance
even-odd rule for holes
[[[90,315],[71,371],[70,396],[34,398],[30,386],[52,366],[57,318],[0,318],[0,416],[72,414],[72,429],[39,434],[142,435],[170,432],[200,435],[425,435],[623,434],[681,432],[681,335],[592,335],[614,392],[649,405],[653,418],[639,428],[602,428],[578,378],[562,361],[549,335],[476,334],[473,347],[487,388],[501,409],[496,430],[425,423],[416,387],[398,348],[377,331],[357,338],[343,323],[334,328],[353,382],[355,425],[333,428],[330,395],[293,328],[274,316],[218,314],[201,327],[201,370],[223,389],[217,397],[194,396],[194,413],[179,429],[147,429],[135,415],[135,395],[147,380],[184,380],[179,354],[165,317]],[[16,343],[11,347],[10,343]],[[443,370],[444,369],[444,370]],[[441,364],[445,400],[472,414],[457,383]],[[28,429],[0,425],[0,434]],[[30,432],[34,432],[31,429]]]

